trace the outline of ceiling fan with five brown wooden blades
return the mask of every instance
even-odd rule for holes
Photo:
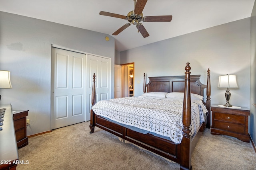
[[[146,38],[149,36],[148,31],[145,29],[145,27],[140,23],[140,21],[143,22],[170,22],[172,20],[172,16],[144,16],[142,14],[142,11],[146,5],[148,0],[134,0],[134,10],[129,12],[127,16],[114,14],[110,12],[104,12],[101,11],[100,15],[103,16],[110,16],[115,18],[121,18],[124,20],[128,20],[129,23],[126,23],[122,27],[120,27],[118,30],[116,30],[112,35],[118,35],[120,32],[124,31],[127,27],[129,27],[131,24],[136,25],[138,31],[140,31],[141,35]]]

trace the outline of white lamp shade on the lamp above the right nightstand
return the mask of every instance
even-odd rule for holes
[[[219,76],[218,88],[238,88],[236,75]]]

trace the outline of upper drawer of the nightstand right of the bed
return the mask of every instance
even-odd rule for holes
[[[215,112],[214,119],[220,121],[228,121],[232,123],[245,124],[245,117],[243,115],[233,115],[228,113]]]

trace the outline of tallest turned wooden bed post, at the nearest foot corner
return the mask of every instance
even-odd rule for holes
[[[183,99],[183,111],[182,111],[182,123],[183,123],[183,138],[181,141],[181,159],[180,159],[180,169],[190,170],[191,166],[191,136],[190,136],[190,124],[191,124],[191,94],[190,94],[190,65],[187,63],[185,67],[185,91]]]

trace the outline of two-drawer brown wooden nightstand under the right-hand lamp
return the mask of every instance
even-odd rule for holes
[[[213,104],[211,110],[212,135],[228,135],[250,143],[248,134],[248,116],[250,115],[250,110],[247,107],[220,107]]]

